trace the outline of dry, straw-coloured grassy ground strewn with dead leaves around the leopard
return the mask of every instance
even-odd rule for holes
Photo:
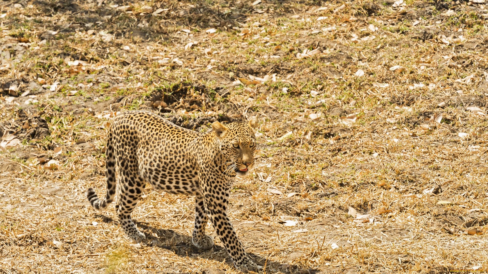
[[[236,273],[192,196],[146,189],[137,245],[89,206],[134,109],[259,120],[229,216],[263,273],[487,272],[483,2],[0,2],[0,273]]]

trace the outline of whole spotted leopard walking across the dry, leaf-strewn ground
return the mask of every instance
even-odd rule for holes
[[[124,236],[133,243],[146,241],[131,213],[146,184],[171,194],[195,196],[192,243],[201,250],[214,246],[205,234],[210,223],[244,273],[261,266],[244,251],[227,214],[237,176],[249,175],[256,151],[256,119],[248,122],[214,121],[206,132],[180,127],[148,111],[125,111],[108,127],[105,147],[106,192],[99,199],[93,187],[86,191],[91,206],[100,212],[114,201]]]

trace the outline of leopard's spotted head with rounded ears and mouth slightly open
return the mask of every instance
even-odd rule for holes
[[[258,122],[251,119],[248,123],[233,122],[223,125],[212,123],[212,129],[219,140],[219,149],[229,160],[237,176],[245,176],[254,166],[256,150],[256,130]]]

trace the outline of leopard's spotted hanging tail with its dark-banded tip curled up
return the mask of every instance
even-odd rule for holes
[[[107,193],[103,200],[99,199],[95,190],[90,187],[86,191],[86,197],[88,201],[93,206],[94,209],[98,211],[103,211],[107,208],[107,206],[114,200],[115,197],[115,154],[114,154],[114,146],[112,143],[112,130],[109,128],[108,130],[108,140],[107,146],[105,151],[105,166],[107,168],[106,178],[107,178]]]

